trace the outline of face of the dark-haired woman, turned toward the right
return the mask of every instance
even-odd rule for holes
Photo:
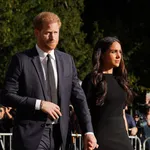
[[[103,69],[119,67],[122,57],[121,45],[114,42],[109,49],[102,55]]]

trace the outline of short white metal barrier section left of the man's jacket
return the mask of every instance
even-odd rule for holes
[[[6,137],[9,137],[9,143],[6,143]],[[6,149],[6,144],[9,144],[9,150],[11,150],[12,133],[0,133],[0,146],[2,150]]]

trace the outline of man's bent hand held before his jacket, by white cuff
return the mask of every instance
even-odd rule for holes
[[[49,115],[52,119],[58,119],[62,116],[60,107],[52,102],[41,101],[41,110]]]

